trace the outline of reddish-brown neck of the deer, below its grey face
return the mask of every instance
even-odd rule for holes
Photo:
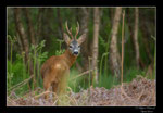
[[[68,49],[64,52],[63,56],[65,58],[65,61],[70,67],[74,64],[74,62],[76,61],[76,58],[77,58],[77,56],[73,55]]]

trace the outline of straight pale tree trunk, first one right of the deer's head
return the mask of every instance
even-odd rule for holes
[[[95,8],[93,9],[92,67],[95,68],[96,84],[98,83],[99,26],[100,26],[100,11],[99,8]]]

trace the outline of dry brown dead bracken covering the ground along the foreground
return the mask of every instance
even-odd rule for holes
[[[38,95],[36,95],[38,93]],[[12,92],[8,96],[8,106],[22,106],[22,105],[50,105],[55,106],[59,99],[52,98],[43,99],[43,89],[37,88],[33,92],[28,92],[23,97],[15,96]],[[66,106],[155,106],[156,105],[156,90],[155,80],[147,79],[138,76],[130,83],[123,83],[122,85],[114,86],[111,89],[103,87],[90,87],[80,92],[73,92],[71,89],[63,100],[60,100],[60,105]]]

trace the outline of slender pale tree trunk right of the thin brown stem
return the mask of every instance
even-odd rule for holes
[[[136,64],[137,68],[139,68],[139,42],[138,42],[138,23],[139,23],[139,10],[138,8],[135,8],[135,28],[134,28],[134,46],[136,51]]]

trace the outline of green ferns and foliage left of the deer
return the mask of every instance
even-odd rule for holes
[[[42,40],[39,45],[30,47],[29,58],[34,62],[34,75],[37,77],[37,86],[40,81],[40,65],[41,63],[47,59],[48,52],[41,52],[41,49],[45,47],[45,40]],[[13,86],[17,85],[18,83],[27,79],[29,77],[29,63],[27,64],[28,71],[26,68],[25,64],[25,53],[16,54],[16,60],[14,62],[11,62],[8,60],[8,89],[11,89]],[[38,66],[37,66],[38,65]],[[12,67],[12,68],[11,68]],[[37,68],[37,72],[36,72]],[[28,84],[24,85],[23,87],[18,88],[16,90],[16,93],[21,95],[25,90],[28,89]],[[33,85],[34,89],[34,85]],[[11,90],[9,90],[10,92]]]

